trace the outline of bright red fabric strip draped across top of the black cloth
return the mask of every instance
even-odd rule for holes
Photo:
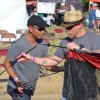
[[[67,54],[68,58],[75,58],[81,61],[86,61],[100,69],[100,54],[98,53],[83,53],[83,52],[75,52],[69,51]]]

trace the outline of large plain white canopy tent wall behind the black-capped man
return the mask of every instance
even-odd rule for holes
[[[27,28],[26,0],[0,0],[0,29],[16,33]]]

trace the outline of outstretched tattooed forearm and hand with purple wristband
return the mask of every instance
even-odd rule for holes
[[[25,61],[26,60],[29,62],[39,64],[41,66],[55,66],[63,60],[62,58],[59,58],[57,56],[40,58],[40,57],[34,57],[30,54],[25,54],[25,53],[22,53],[21,56],[22,56],[22,58],[18,59],[17,61]]]

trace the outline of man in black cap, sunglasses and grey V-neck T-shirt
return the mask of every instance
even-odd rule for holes
[[[40,65],[26,61],[14,64],[12,62],[22,52],[29,52],[37,57],[48,55],[48,48],[43,45],[45,42],[42,40],[46,28],[45,21],[40,16],[33,15],[28,19],[27,26],[28,33],[11,45],[4,61],[9,74],[7,92],[13,100],[31,100],[39,77]]]

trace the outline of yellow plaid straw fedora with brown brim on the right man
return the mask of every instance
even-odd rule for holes
[[[82,12],[78,10],[67,11],[64,14],[64,21],[61,26],[68,28],[70,26],[77,25],[84,21],[85,17],[83,17]]]

